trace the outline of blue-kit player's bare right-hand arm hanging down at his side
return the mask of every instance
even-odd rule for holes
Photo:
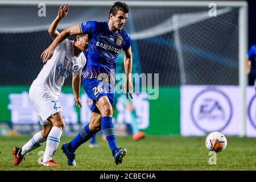
[[[125,52],[125,57],[123,58],[123,64],[125,67],[126,81],[123,84],[122,90],[126,90],[126,97],[128,99],[128,94],[133,98],[133,83],[131,82],[131,69],[133,68],[133,56],[131,53],[131,47]]]

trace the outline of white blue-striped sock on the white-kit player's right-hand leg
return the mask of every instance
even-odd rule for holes
[[[52,160],[52,156],[54,155],[55,151],[57,150],[57,147],[60,143],[60,137],[62,135],[63,131],[56,126],[53,126],[46,142],[46,151],[44,151],[44,158],[43,162],[47,162],[49,160]]]

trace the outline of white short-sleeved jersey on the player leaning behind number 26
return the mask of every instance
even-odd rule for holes
[[[86,58],[82,52],[78,57],[74,55],[73,44],[74,42],[69,39],[61,42],[56,47],[52,58],[46,62],[38,77],[33,81],[33,84],[42,88],[43,99],[57,100],[65,78],[74,72],[81,75]]]

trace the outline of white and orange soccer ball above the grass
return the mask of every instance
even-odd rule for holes
[[[205,146],[210,151],[221,152],[224,151],[228,141],[223,133],[214,131],[207,135],[205,139]]]

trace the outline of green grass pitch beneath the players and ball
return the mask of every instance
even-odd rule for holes
[[[14,146],[23,146],[31,136],[0,137],[0,170],[77,170],[77,171],[171,171],[171,170],[256,170],[256,138],[227,137],[225,151],[217,153],[217,164],[210,165],[205,137],[147,136],[138,141],[131,137],[117,137],[119,147],[127,148],[123,164],[114,163],[108,144],[97,141],[100,147],[89,148],[88,142],[76,151],[78,166],[67,166],[67,159],[61,151],[61,145],[73,137],[61,137],[54,160],[61,167],[39,166],[39,151],[44,151],[46,144],[26,155],[18,167],[13,166],[12,150]]]

